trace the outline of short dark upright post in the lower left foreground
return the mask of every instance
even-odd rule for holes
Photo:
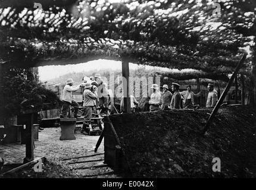
[[[26,114],[26,157],[24,158],[23,163],[34,160],[33,116],[34,113]]]

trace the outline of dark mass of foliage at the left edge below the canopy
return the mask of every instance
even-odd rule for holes
[[[46,90],[31,69],[11,68],[4,72],[2,81],[4,115],[13,116],[27,110],[38,112],[53,109],[60,103],[57,95]]]

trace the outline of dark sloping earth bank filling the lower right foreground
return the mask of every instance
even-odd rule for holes
[[[110,117],[136,178],[256,177],[256,109],[218,111],[200,135],[211,110],[170,110]],[[213,158],[221,172],[213,172]]]

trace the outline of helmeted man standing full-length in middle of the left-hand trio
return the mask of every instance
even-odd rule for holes
[[[97,98],[97,88],[93,88],[91,91],[92,84],[85,84],[85,91],[83,91],[83,128],[82,131],[86,129],[86,126],[89,126],[90,119],[92,119],[92,107],[94,106],[94,100]]]

